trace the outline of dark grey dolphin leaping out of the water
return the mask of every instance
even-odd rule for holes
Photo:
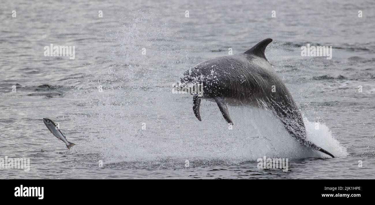
[[[201,98],[213,99],[228,123],[228,104],[267,107],[284,123],[290,134],[304,146],[334,157],[306,139],[302,114],[281,78],[268,62],[264,51],[272,39],[264,39],[245,53],[213,58],[186,71],[181,83],[203,83],[203,96],[193,95],[193,111],[201,121]]]

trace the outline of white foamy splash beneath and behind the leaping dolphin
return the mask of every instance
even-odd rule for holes
[[[158,160],[240,163],[263,156],[289,159],[329,157],[298,144],[268,110],[229,106],[234,122],[230,130],[214,102],[202,101],[202,122],[199,122],[192,112],[190,101],[184,102],[184,98],[181,103],[186,106],[182,107],[173,105],[173,100],[163,100],[164,97],[155,99],[152,107],[157,110],[147,114],[150,112],[147,107],[111,105],[109,102],[118,95],[121,96],[116,91],[110,97],[103,97],[101,100],[107,99],[108,102],[94,107],[97,115],[76,116],[84,117],[76,120],[85,122],[83,126],[90,131],[96,131],[81,143],[83,152],[99,152],[104,157],[104,163]],[[173,110],[175,107],[180,109]],[[144,130],[143,122],[146,123]],[[320,129],[316,130],[314,123],[305,120],[305,124],[308,138],[313,143],[336,157],[347,154],[327,126],[320,125]]]

